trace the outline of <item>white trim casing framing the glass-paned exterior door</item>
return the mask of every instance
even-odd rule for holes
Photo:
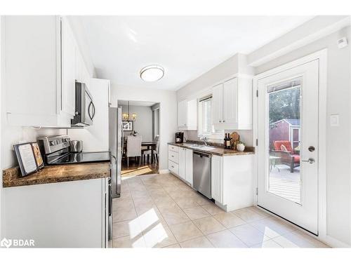
[[[342,245],[336,242],[334,238],[331,236],[327,236],[326,229],[326,81],[327,81],[327,50],[319,50],[310,55],[306,55],[303,58],[299,58],[298,60],[294,60],[292,62],[286,63],[274,69],[270,69],[267,72],[263,72],[253,77],[253,90],[258,90],[258,80],[263,79],[267,76],[272,76],[279,72],[283,72],[287,69],[291,69],[293,67],[298,67],[299,65],[303,65],[307,62],[311,62],[313,60],[319,60],[319,177],[318,177],[318,239],[328,245]],[[258,138],[258,99],[256,96],[253,97],[253,142]],[[260,147],[260,143],[258,146]],[[256,173],[256,187],[258,185],[258,151],[255,156],[255,173]],[[256,205],[257,198],[255,196]]]

